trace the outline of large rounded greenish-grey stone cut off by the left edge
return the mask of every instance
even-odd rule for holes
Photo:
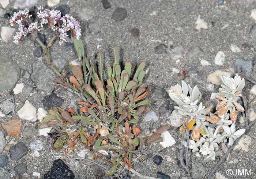
[[[0,67],[0,91],[12,90],[20,76],[18,64],[1,56]]]

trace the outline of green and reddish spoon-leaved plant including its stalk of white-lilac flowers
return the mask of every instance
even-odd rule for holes
[[[113,67],[107,67],[106,79],[103,78],[101,52],[99,52],[99,70],[93,60],[86,58],[83,43],[80,40],[81,30],[78,21],[72,16],[61,16],[60,11],[38,8],[36,22],[31,22],[29,11],[14,13],[10,19],[11,25],[17,24],[19,32],[14,36],[14,43],[19,43],[23,37],[31,33],[38,43],[45,49],[47,64],[60,77],[55,79],[55,86],[67,89],[80,97],[79,112],[72,108],[63,110],[52,107],[48,110],[39,129],[52,127],[56,134],[52,136],[51,145],[55,150],[62,148],[69,152],[75,149],[79,141],[94,152],[110,155],[108,163],[113,166],[106,175],[113,175],[120,162],[123,166],[132,167],[132,154],[138,153],[143,146],[163,141],[161,134],[169,126],[160,127],[154,134],[143,136],[136,124],[140,115],[147,112],[151,100],[145,99],[151,91],[151,86],[143,83],[146,66],[142,62],[132,74],[132,65],[129,61],[121,69],[118,50],[114,48]],[[37,38],[37,32],[48,24],[53,30],[53,37],[47,47]],[[49,45],[56,37],[59,44],[66,41],[67,31],[71,31],[74,45],[78,54],[78,65],[69,65],[72,75],[61,75],[50,63],[48,54]],[[80,140],[79,140],[80,139]]]

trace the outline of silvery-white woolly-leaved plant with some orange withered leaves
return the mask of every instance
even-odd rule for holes
[[[192,149],[196,156],[202,154],[212,160],[219,146],[232,146],[234,140],[245,132],[245,129],[235,127],[237,113],[244,112],[238,100],[245,80],[237,74],[234,77],[221,76],[221,79],[223,84],[215,96],[219,102],[214,113],[211,112],[213,105],[205,107],[199,103],[202,94],[197,86],[192,89],[182,81],[181,85],[176,84],[168,90],[170,98],[178,104],[174,108],[184,116],[180,132],[190,132],[189,141],[183,141],[183,145]]]

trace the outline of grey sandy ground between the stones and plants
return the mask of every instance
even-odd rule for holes
[[[227,67],[233,67],[233,61],[237,58],[244,58],[245,60],[251,60],[255,57],[255,51],[249,48],[242,48],[242,44],[249,44],[256,48],[255,37],[249,36],[249,31],[255,20],[250,17],[251,10],[256,7],[256,2],[248,3],[244,0],[227,0],[224,4],[218,5],[217,0],[109,0],[111,8],[104,9],[101,1],[94,0],[61,0],[60,5],[67,4],[70,7],[70,14],[76,17],[82,26],[82,41],[85,44],[86,54],[88,57],[91,54],[98,54],[101,50],[103,54],[104,67],[113,63],[113,47],[118,47],[120,51],[120,60],[131,61],[132,66],[138,66],[140,62],[146,61],[146,68],[148,73],[146,75],[147,84],[157,84],[162,88],[168,88],[176,83],[181,83],[182,77],[179,77],[176,72],[173,72],[173,68],[176,68],[178,72],[182,70],[188,70],[191,67],[197,68],[200,72],[200,80],[189,77],[185,80],[192,86],[198,85],[203,94],[203,102],[207,102],[210,98],[211,92],[204,90],[206,87],[207,76],[214,72],[213,69],[203,69],[200,64],[200,60],[204,59],[211,63],[212,67],[218,67],[225,69]],[[13,1],[5,8],[7,12],[13,9]],[[46,2],[38,2],[37,6],[44,5]],[[127,10],[127,17],[116,22],[112,19],[112,13],[118,7],[125,8]],[[30,8],[33,9],[33,8]],[[92,16],[102,17],[102,25],[99,32],[92,33],[88,28],[88,21],[84,19],[84,16],[88,16],[88,11],[93,11]],[[207,23],[207,29],[196,29],[196,20],[200,16]],[[8,19],[0,17],[0,26],[10,26]],[[133,37],[129,32],[132,28],[139,29],[139,37]],[[177,27],[182,27],[182,30],[177,30]],[[50,40],[49,31],[43,31]],[[189,58],[187,55],[190,45],[195,42],[203,51],[201,56]],[[156,54],[154,48],[159,44],[166,45],[166,53]],[[230,50],[230,44],[236,44],[241,52],[234,53]],[[177,45],[182,45],[185,49],[185,55],[180,58],[179,61],[173,60],[170,57],[171,48]],[[22,40],[18,45],[12,43],[12,39],[7,42],[0,40],[0,55],[9,59],[17,61],[21,71],[27,70],[30,74],[33,72],[32,64],[37,61],[37,57],[33,55],[35,50],[33,43],[33,37],[29,36]],[[63,46],[59,47],[58,41],[54,41],[51,51],[57,51],[55,54],[65,53]],[[214,64],[214,58],[219,51],[225,53],[225,62],[223,65],[218,66]],[[75,49],[72,48],[65,53],[64,58],[67,61],[76,59]],[[54,56],[52,57],[54,60]],[[256,79],[255,66],[253,72],[249,78]],[[68,71],[67,64],[64,71]],[[45,74],[47,75],[47,74]],[[30,84],[35,87],[35,83],[30,79],[23,79],[22,75],[17,83]],[[245,95],[248,101],[255,98],[250,94],[249,90],[253,84],[246,81]],[[214,92],[218,91],[219,86],[215,85]],[[12,94],[11,91],[0,92],[0,101],[7,99]],[[22,94],[15,95],[15,106],[19,110],[26,99],[35,106],[35,108],[42,107],[42,99],[47,93],[38,90],[34,95],[26,98]],[[70,106],[70,99],[75,96],[62,90],[59,91],[58,96],[65,100],[62,108],[68,108]],[[144,122],[141,117],[139,127],[142,129],[142,133],[147,134],[152,132],[154,128],[160,127],[162,124],[166,124],[169,113],[158,114],[158,107],[163,104],[166,99],[158,99],[153,94],[148,98],[152,99],[157,108],[153,108],[159,120],[157,122]],[[172,100],[168,99],[171,103]],[[255,100],[254,100],[255,102]],[[253,102],[253,103],[254,103]],[[249,108],[255,109],[255,104],[251,104]],[[17,113],[0,118],[1,122],[7,122],[9,119],[17,116]],[[24,122],[24,126],[32,125],[37,126],[39,122]],[[243,127],[244,124],[239,124],[238,127]],[[3,128],[0,130],[4,132]],[[179,159],[178,143],[180,141],[180,134],[177,128],[171,127],[170,134],[176,140],[176,144],[172,147],[163,149],[160,144],[151,144],[146,147],[144,152],[153,153],[154,155],[161,155],[163,157],[163,163],[157,166],[153,163],[152,158],[142,156],[139,162],[136,162],[133,166],[136,170],[140,171],[144,175],[156,177],[158,171],[163,172],[166,175],[170,175],[171,178],[177,178],[178,176],[185,176],[185,170],[177,165]],[[256,175],[256,143],[255,143],[255,126],[249,131],[246,131],[246,135],[251,136],[252,142],[249,146],[249,151],[234,150],[231,155],[234,159],[238,159],[236,163],[230,164],[224,162],[218,168],[218,172],[227,178],[255,178]],[[26,146],[34,139],[40,139],[44,141],[44,149],[39,151],[40,156],[33,158],[31,155],[26,155],[21,159],[26,161],[27,167],[30,170],[28,176],[22,175],[22,178],[33,178],[31,173],[39,172],[41,177],[50,170],[54,160],[51,151],[53,148],[49,146],[50,137],[34,137],[30,140],[25,140],[20,136],[19,138],[7,137],[7,145],[13,146],[16,142],[23,142]],[[82,150],[82,145],[77,146],[77,150]],[[29,153],[32,151],[30,150]],[[3,151],[3,154],[9,156],[8,151]],[[191,153],[190,153],[191,154]],[[75,152],[71,155],[74,155]],[[72,157],[71,157],[72,158]],[[71,158],[64,158],[64,162],[70,167],[74,160]],[[197,158],[193,154],[189,155],[189,162],[198,161],[206,164],[206,170],[210,171],[215,166],[218,158],[214,160],[203,160],[203,158]],[[6,166],[9,170],[14,170],[14,167],[22,161],[11,161]],[[100,163],[104,164],[99,160]],[[106,165],[106,164],[105,164]],[[98,172],[98,167],[93,164],[80,161],[80,167],[73,170],[76,178],[94,178]],[[227,169],[252,169],[252,176],[228,176],[226,175]],[[118,169],[118,172],[122,172],[122,168]],[[132,176],[136,179],[136,176]],[[34,176],[34,178],[37,178]],[[214,175],[215,178],[215,175]]]

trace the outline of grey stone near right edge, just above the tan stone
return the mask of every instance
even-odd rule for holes
[[[244,76],[250,76],[252,73],[252,60],[238,58],[234,61],[234,67],[238,73],[242,73]]]

